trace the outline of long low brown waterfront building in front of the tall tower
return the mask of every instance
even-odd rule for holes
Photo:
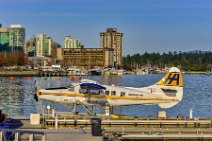
[[[62,56],[65,67],[111,67],[113,63],[111,48],[64,48]]]

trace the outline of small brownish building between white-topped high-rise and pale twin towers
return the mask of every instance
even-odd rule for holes
[[[36,54],[36,37],[33,36],[26,42],[25,53],[28,57],[33,57]]]

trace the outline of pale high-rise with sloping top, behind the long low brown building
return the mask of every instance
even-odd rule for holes
[[[76,40],[72,38],[71,36],[66,36],[64,39],[64,48],[82,48],[83,45],[79,42],[79,40]]]

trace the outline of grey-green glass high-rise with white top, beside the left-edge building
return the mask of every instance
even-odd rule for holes
[[[23,51],[25,44],[25,28],[20,24],[10,25],[9,44],[12,51]]]

